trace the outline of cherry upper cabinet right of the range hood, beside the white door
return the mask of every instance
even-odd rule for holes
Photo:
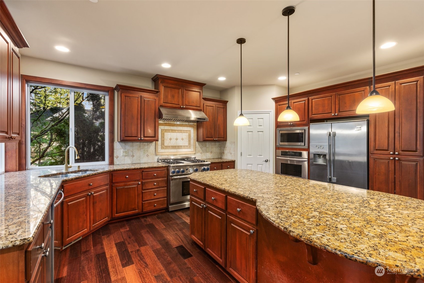
[[[197,123],[197,141],[226,141],[228,101],[212,98],[203,101],[203,112],[209,121]]]

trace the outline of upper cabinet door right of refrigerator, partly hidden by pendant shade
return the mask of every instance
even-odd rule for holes
[[[380,95],[395,103],[395,83],[375,86]],[[395,111],[370,114],[370,153],[393,154],[395,152]],[[371,182],[370,182],[371,184]]]

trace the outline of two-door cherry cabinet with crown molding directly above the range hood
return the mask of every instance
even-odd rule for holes
[[[203,86],[206,84],[162,75],[156,75],[152,80],[159,91],[159,106],[202,110]]]

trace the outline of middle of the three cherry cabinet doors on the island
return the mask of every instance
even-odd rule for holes
[[[205,213],[205,250],[225,267],[226,215],[210,205]]]

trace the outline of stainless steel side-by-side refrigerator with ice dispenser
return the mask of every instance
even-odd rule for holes
[[[368,120],[310,125],[310,179],[368,189]]]

